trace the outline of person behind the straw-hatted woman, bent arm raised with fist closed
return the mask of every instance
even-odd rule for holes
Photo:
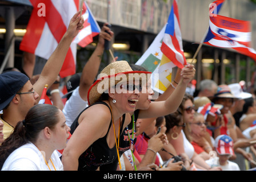
[[[131,68],[134,71],[146,71],[145,68],[139,65],[131,65]],[[150,123],[153,122],[155,118],[160,117],[162,115],[173,113],[177,110],[185,94],[186,85],[188,82],[190,82],[194,75],[194,65],[187,64],[185,68],[178,69],[174,79],[179,82],[176,88],[174,86],[169,86],[165,93],[163,93],[160,96],[161,98],[159,97],[156,101],[151,101],[154,95],[154,91],[151,89],[151,80],[149,79],[149,81],[147,81],[147,84],[143,85],[144,87],[141,96],[139,97],[139,101],[136,104],[135,111],[131,113],[132,121],[126,127],[126,130],[123,131],[122,133],[122,137],[120,139],[119,144],[119,154],[122,154],[123,152],[132,148],[131,145],[134,145],[136,142],[135,136],[141,134],[143,132],[143,129],[145,129],[146,126],[149,126]],[[143,92],[144,90],[146,92]],[[138,118],[147,119],[146,122],[142,122],[143,129],[141,129],[141,132],[139,133],[136,131],[136,127],[138,126],[135,126],[137,125]],[[145,159],[145,161],[147,160],[148,162],[151,162],[152,158],[154,158],[154,153],[150,153],[149,151],[149,154],[146,154],[144,158],[147,158]],[[147,162],[144,162],[144,164],[146,163]],[[107,167],[109,166],[110,165],[108,165]]]

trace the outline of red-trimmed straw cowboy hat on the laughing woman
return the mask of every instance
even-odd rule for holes
[[[109,88],[121,82],[139,80],[147,81],[151,72],[133,71],[127,61],[115,61],[107,65],[98,75],[98,79],[91,85],[87,100],[92,105],[99,100],[103,93],[108,93]]]

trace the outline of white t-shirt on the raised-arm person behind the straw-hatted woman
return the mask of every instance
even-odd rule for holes
[[[67,100],[62,112],[66,118],[66,125],[71,126],[75,118],[81,113],[85,107],[88,106],[88,102],[84,101],[79,94],[79,86],[74,90],[69,100]]]

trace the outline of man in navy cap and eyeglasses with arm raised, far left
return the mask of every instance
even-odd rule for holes
[[[4,139],[9,137],[17,123],[25,118],[27,111],[38,104],[45,84],[51,85],[56,80],[71,42],[83,28],[84,21],[78,15],[79,12],[71,18],[66,33],[34,85],[29,77],[20,72],[11,71],[0,75],[0,110],[3,110],[0,119],[4,123]]]

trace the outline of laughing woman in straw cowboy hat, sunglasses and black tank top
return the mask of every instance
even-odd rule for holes
[[[71,125],[63,151],[65,170],[96,170],[119,160],[119,139],[151,72],[133,71],[127,61],[107,65],[88,92],[89,107]],[[128,114],[126,114],[128,113]]]

